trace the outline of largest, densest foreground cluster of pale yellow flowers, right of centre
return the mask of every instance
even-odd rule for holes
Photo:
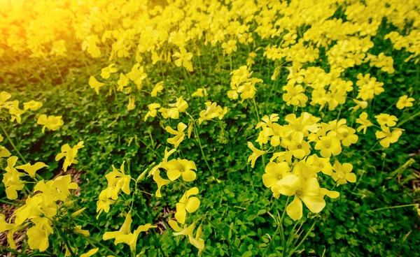
[[[260,147],[271,147],[264,151],[248,142],[248,147],[253,151],[248,161],[253,167],[259,156],[272,154],[262,180],[274,197],[294,196],[286,212],[290,218],[298,220],[303,215],[302,202],[311,212],[318,213],[325,207],[324,196],[339,196],[338,192],[319,185],[318,177],[321,174],[332,177],[337,186],[356,182],[350,163],[341,164],[335,157],[332,166],[330,158],[339,155],[342,146],[355,144],[358,135],[355,135],[356,130],[346,126],[346,119],[335,119],[328,124],[318,123],[320,119],[308,112],[303,112],[300,117],[287,115],[287,124],[283,126],[278,121],[279,115],[276,114],[262,117],[256,127],[260,129],[256,142]],[[319,150],[321,156],[311,154],[311,149]]]

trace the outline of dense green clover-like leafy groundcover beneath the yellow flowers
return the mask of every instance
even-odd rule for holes
[[[414,90],[414,98],[420,98],[420,66],[413,62],[404,62],[408,54],[393,50],[391,43],[384,41],[383,37],[389,30],[388,24],[381,24],[379,34],[372,38],[375,45],[371,53],[385,52],[393,57],[395,73],[384,73],[368,64],[361,64],[349,68],[344,75],[355,82],[358,73],[369,71],[372,76],[385,83],[386,93],[374,98],[374,103],[367,109],[370,114],[384,112],[390,105],[395,107],[398,97],[409,88]],[[258,39],[255,42],[256,47],[265,47],[269,43],[267,39]],[[197,71],[174,73],[173,68],[164,66],[161,70],[150,65],[146,66],[148,79],[151,85],[164,80],[165,94],[162,95],[162,101],[170,103],[173,102],[171,96],[182,95],[190,105],[188,111],[194,115],[202,110],[204,103],[202,98],[190,97],[190,90],[195,91],[198,87],[209,90],[211,101],[229,107],[229,112],[222,121],[204,122],[199,128],[204,154],[220,182],[212,179],[196,140],[184,140],[175,156],[195,161],[198,170],[195,185],[200,189],[202,201],[200,214],[206,214],[206,220],[214,225],[204,226],[206,249],[203,255],[261,256],[269,237],[276,230],[272,216],[283,212],[286,196],[279,200],[274,199],[272,192],[262,184],[262,165],[252,169],[247,163],[251,152],[246,147],[246,142],[256,138],[257,119],[251,101],[232,102],[226,97],[230,83],[229,57],[226,56],[223,62],[219,62],[215,47],[202,49],[202,68],[197,68]],[[238,45],[237,52],[232,54],[234,68],[246,64],[247,54],[243,54],[246,52],[246,47]],[[320,59],[325,59],[323,54],[321,47]],[[50,164],[49,171],[41,173],[46,179],[57,175],[61,168],[54,158],[62,145],[74,145],[80,140],[85,142],[85,148],[78,152],[81,163],[76,166],[81,180],[78,205],[87,207],[85,213],[94,217],[97,215],[95,203],[98,195],[106,186],[104,175],[109,172],[111,165],[120,166],[126,161],[132,177],[137,177],[151,163],[159,162],[162,158],[167,146],[167,133],[163,128],[167,125],[174,128],[183,120],[154,119],[153,122],[144,122],[146,105],[151,103],[148,93],[141,93],[143,95],[137,98],[137,108],[129,111],[123,94],[114,94],[113,89],[102,89],[101,94],[97,95],[87,85],[89,75],[97,75],[105,60],[92,60],[80,55],[73,61],[70,64],[58,64],[60,75],[55,66],[49,63],[39,66],[27,60],[27,67],[16,62],[7,64],[10,69],[4,69],[3,64],[0,71],[1,90],[7,90],[22,102],[31,99],[43,102],[43,108],[48,110],[49,115],[63,116],[64,126],[58,131],[41,133],[41,126],[36,124],[35,115],[22,116],[22,124],[2,123],[26,159]],[[197,65],[198,61],[194,59],[194,63]],[[126,64],[120,63],[125,70],[130,70],[131,65],[129,61]],[[325,61],[318,60],[311,66],[328,69]],[[288,71],[282,69],[278,79],[272,81],[270,78],[273,69],[274,62],[267,61],[262,54],[256,57],[252,67],[253,77],[261,78],[264,82],[258,86],[255,101],[261,117],[278,113],[279,123],[282,123],[286,115],[293,113],[293,106],[286,106],[281,98],[281,87],[286,85]],[[35,78],[28,72],[37,70],[41,70],[41,78]],[[324,109],[318,112],[318,107],[314,106],[305,108],[305,111],[319,113],[319,117],[325,121],[346,117],[347,124],[352,124],[356,119],[348,110],[352,105],[348,101],[342,108],[334,111]],[[418,110],[416,106],[418,105],[391,114],[402,117],[404,113],[404,117],[409,117],[409,113]],[[395,108],[392,110],[396,112]],[[300,112],[298,109],[297,114]],[[188,120],[183,122],[187,123]],[[418,118],[407,120],[400,126],[405,129],[400,140],[387,149],[377,145],[367,152],[377,142],[374,131],[369,129],[365,136],[359,137],[356,145],[343,148],[340,161],[353,164],[358,181],[340,186],[340,197],[328,199],[320,214],[308,214],[308,210],[304,210],[304,218],[300,221],[301,230],[307,231],[314,221],[316,225],[300,247],[302,256],[415,256],[420,253],[420,221],[416,208],[398,207],[420,203],[419,190],[413,189],[415,180],[419,177],[419,173],[414,171],[419,170],[420,161],[418,126]],[[6,141],[4,145],[13,149]],[[1,166],[6,166],[6,159],[1,161]],[[260,161],[262,160],[259,159],[258,162]],[[405,166],[407,161],[408,165]],[[155,183],[150,179],[141,182],[138,187],[148,192],[156,189]],[[140,197],[135,201],[133,209],[133,216],[137,217],[135,222],[154,223],[158,228],[151,232],[153,236],[139,238],[137,252],[143,251],[146,256],[158,256],[158,249],[161,247],[167,256],[196,256],[197,249],[188,244],[187,240],[174,237],[167,224],[167,220],[174,216],[179,189],[169,184],[164,192],[164,197],[158,200],[138,192]],[[6,199],[3,184],[0,193],[1,199]],[[113,205],[109,213],[99,216],[98,225],[101,230],[83,219],[78,224],[89,229],[92,237],[100,240],[104,230],[118,230],[124,221],[122,207],[130,205],[129,199],[120,201]],[[285,224],[287,236],[293,227],[292,220],[287,216]],[[303,235],[304,233],[302,237]],[[52,238],[55,236],[51,235]],[[111,241],[102,241],[102,244],[113,247]],[[87,244],[80,237],[74,237],[72,242],[82,249]],[[59,249],[59,245],[55,245],[59,244],[57,241],[51,239],[50,244],[52,249]],[[277,250],[282,249],[279,235],[273,246]],[[22,247],[27,248],[27,244],[24,242]],[[129,249],[123,244],[112,249],[120,249],[120,256],[129,254]],[[57,250],[50,251],[58,254]]]

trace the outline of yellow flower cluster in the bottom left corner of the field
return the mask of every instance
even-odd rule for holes
[[[25,182],[20,180],[20,177],[25,176],[25,173],[18,172],[17,169],[25,170],[31,178],[35,178],[37,170],[48,167],[41,162],[35,163],[33,166],[27,163],[24,166],[15,167],[17,161],[18,157],[11,156],[7,161],[6,174],[3,175],[3,183],[10,200],[18,198],[17,191],[25,187]],[[29,247],[45,251],[49,246],[48,237],[54,233],[52,222],[55,220],[55,216],[62,211],[62,207],[70,204],[70,190],[77,188],[78,185],[71,182],[70,175],[58,176],[47,182],[43,179],[38,181],[34,186],[33,194],[27,197],[25,205],[15,210],[14,223],[7,223],[5,216],[1,214],[0,232],[8,230],[10,247],[15,248],[13,234],[31,226],[27,230]],[[80,231],[75,230],[75,233],[80,233]]]

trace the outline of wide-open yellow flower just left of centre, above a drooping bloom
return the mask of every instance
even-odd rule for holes
[[[164,168],[167,170],[168,178],[171,181],[178,179],[181,175],[185,182],[191,182],[197,177],[194,172],[194,170],[197,170],[194,161],[188,161],[187,159],[172,159],[165,163]]]

